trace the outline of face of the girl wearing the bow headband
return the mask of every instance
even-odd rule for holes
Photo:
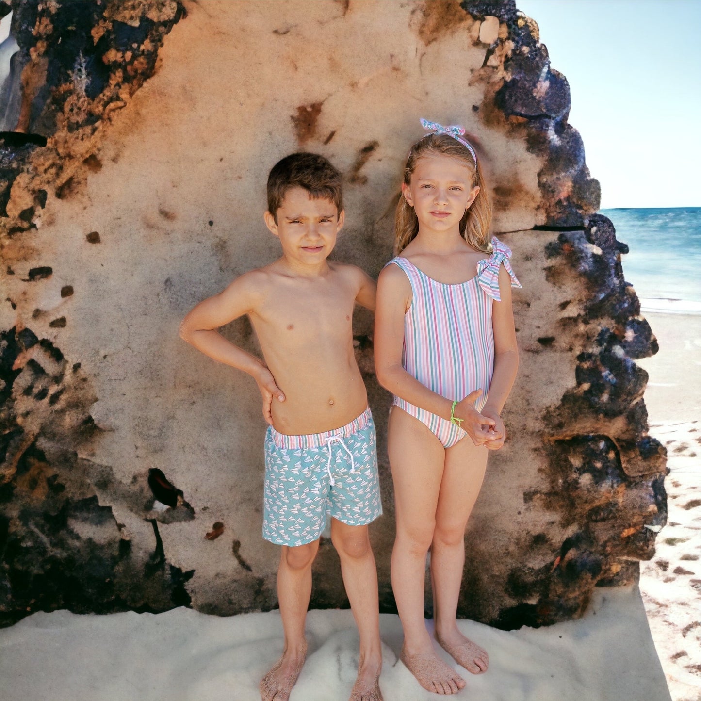
[[[472,170],[449,156],[425,156],[416,162],[411,183],[402,193],[418,218],[419,229],[451,231],[460,228],[465,210],[475,201]]]

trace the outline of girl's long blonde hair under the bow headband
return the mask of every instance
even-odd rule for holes
[[[491,203],[487,195],[482,168],[475,163],[470,151],[457,139],[448,134],[429,134],[419,139],[409,151],[407,166],[404,168],[404,183],[411,184],[411,174],[419,158],[426,156],[449,156],[461,161],[472,172],[472,187],[479,185],[475,201],[465,210],[460,220],[460,235],[472,248],[491,253],[489,243],[489,226],[491,224]],[[400,255],[418,233],[418,219],[414,207],[411,207],[404,195],[400,195],[395,212],[395,255]]]

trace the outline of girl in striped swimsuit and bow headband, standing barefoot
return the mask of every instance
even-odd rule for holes
[[[511,251],[488,233],[482,170],[460,127],[421,120],[395,215],[398,256],[377,290],[377,379],[395,395],[388,453],[397,538],[392,586],[404,628],[401,659],[423,688],[453,694],[465,680],[437,658],[423,620],[426,553],[435,638],[473,674],[484,650],[461,634],[456,610],[468,517],[518,366]]]

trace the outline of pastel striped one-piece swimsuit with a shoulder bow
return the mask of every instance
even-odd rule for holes
[[[498,238],[489,258],[477,264],[477,275],[465,283],[439,283],[406,258],[388,265],[400,266],[411,283],[411,305],[404,314],[402,367],[421,384],[449,400],[462,400],[481,389],[475,408],[486,402],[494,372],[494,329],[491,309],[500,301],[499,268],[503,264],[512,287],[521,287],[512,271],[511,250]],[[465,431],[441,416],[402,399],[394,404],[425,423],[445,448],[454,446]]]

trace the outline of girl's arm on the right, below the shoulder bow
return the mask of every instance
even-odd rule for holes
[[[511,278],[504,266],[499,269],[499,295],[501,301],[494,302],[491,312],[494,327],[494,374],[486,403],[482,408],[482,414],[493,418],[496,421],[494,429],[501,433],[501,438],[486,442],[486,447],[492,450],[501,448],[504,444],[506,432],[500,414],[514,385],[519,367],[519,350],[511,304]]]

